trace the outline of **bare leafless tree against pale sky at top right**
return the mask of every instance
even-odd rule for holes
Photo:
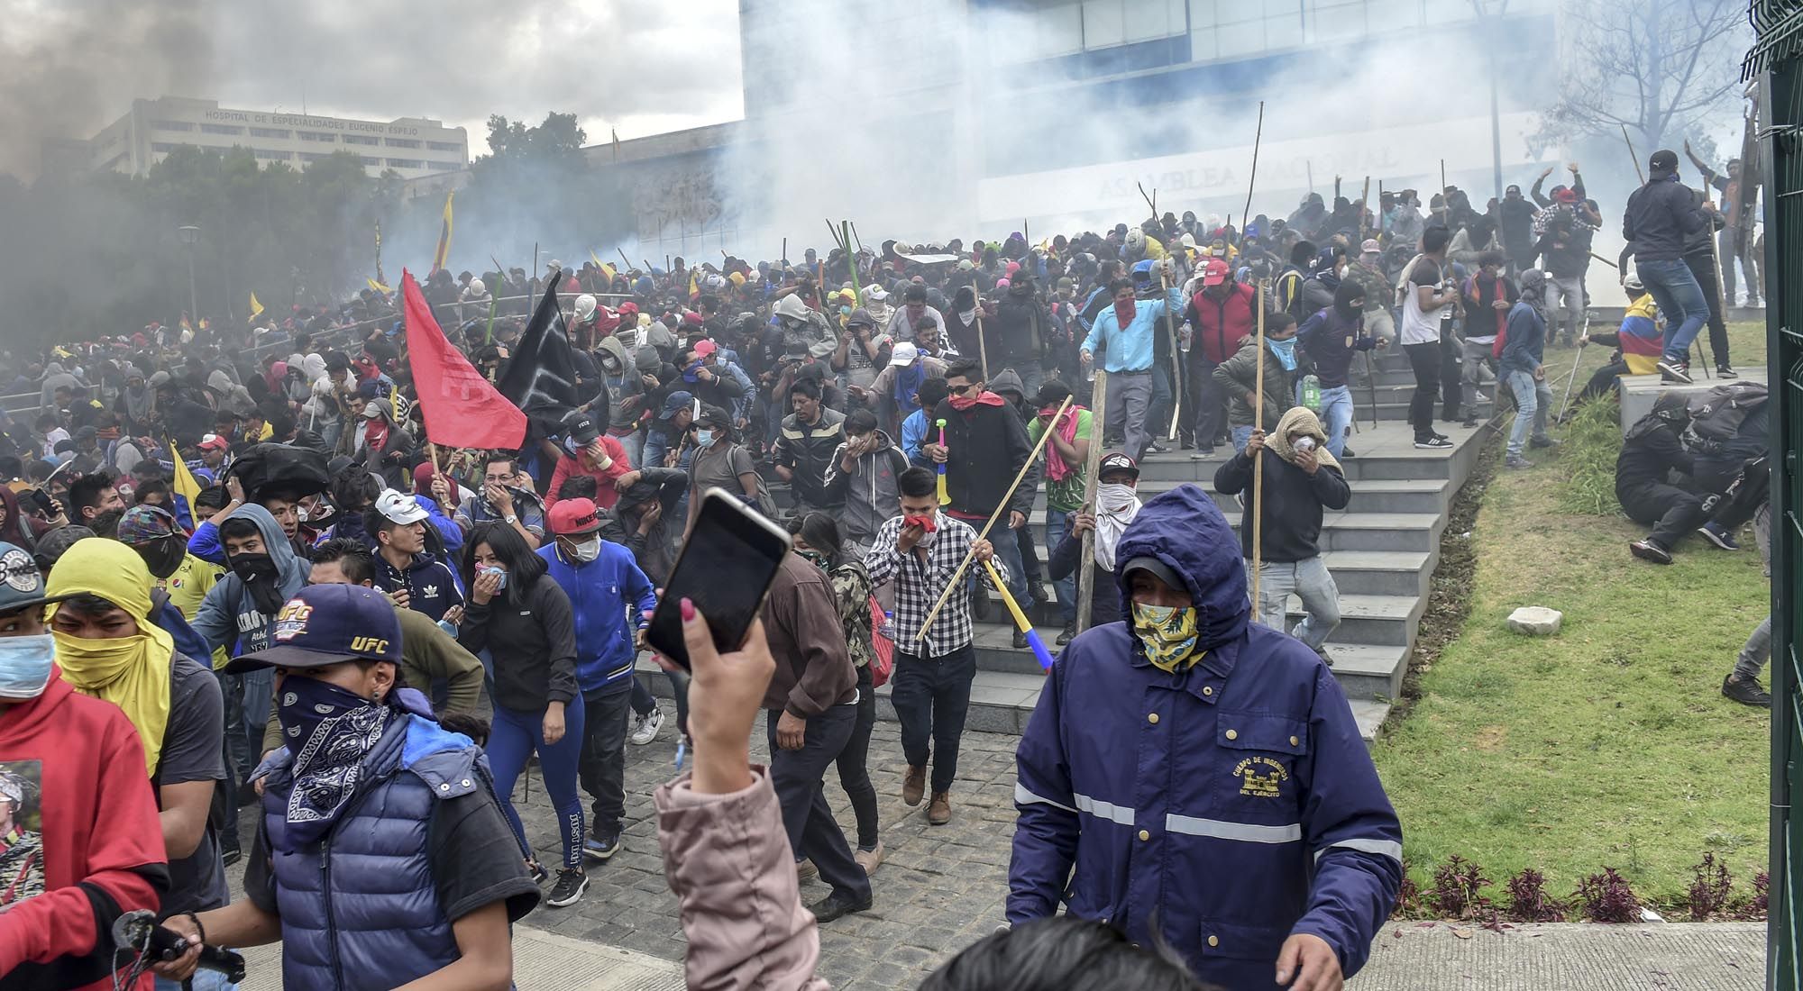
[[[1608,139],[1626,126],[1643,157],[1731,112],[1753,41],[1745,0],[1570,0],[1565,27],[1565,77],[1542,137]]]

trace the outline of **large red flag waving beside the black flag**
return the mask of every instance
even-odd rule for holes
[[[526,414],[445,341],[413,274],[400,272],[406,295],[407,362],[426,416],[426,440],[447,447],[516,450],[526,441]]]

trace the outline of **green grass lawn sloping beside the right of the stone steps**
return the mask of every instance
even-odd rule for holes
[[[1763,333],[1731,328],[1736,366],[1763,362]],[[1588,348],[1585,375],[1605,359]],[[1570,362],[1551,351],[1549,377]],[[1608,865],[1644,901],[1673,905],[1706,850],[1736,894],[1765,865],[1769,714],[1720,694],[1767,613],[1760,555],[1751,532],[1742,553],[1691,537],[1659,568],[1628,555],[1644,528],[1612,497],[1610,515],[1570,512],[1581,461],[1614,463],[1619,436],[1599,423],[1531,470],[1496,470],[1471,533],[1471,614],[1376,744],[1421,885],[1457,854],[1498,885],[1533,867],[1563,897]],[[1560,609],[1565,625],[1513,634],[1516,605]]]

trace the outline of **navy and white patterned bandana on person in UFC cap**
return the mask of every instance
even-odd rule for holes
[[[388,730],[393,710],[330,681],[283,676],[276,699],[281,737],[294,755],[285,847],[325,836],[362,780],[362,760]]]

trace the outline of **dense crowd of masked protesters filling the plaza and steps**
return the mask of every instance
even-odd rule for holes
[[[1671,182],[1670,155],[1630,200],[1625,258],[1682,314],[1659,368],[1688,380],[1707,315],[1679,276],[1716,214]],[[902,800],[952,822],[990,582],[927,614],[974,557],[1022,607],[1055,604],[1075,661],[1049,672],[1020,742],[1017,928],[929,986],[1098,960],[1134,986],[1194,986],[1129,946],[1158,937],[1228,987],[1340,987],[1401,881],[1401,827],[1325,649],[1340,602],[1318,539],[1350,492],[1352,386],[1399,348],[1415,447],[1451,447],[1435,422],[1473,423],[1486,386],[1518,411],[1511,467],[1556,443],[1543,350],[1585,333],[1601,223],[1569,171],[1484,211],[1455,187],[1426,205],[1309,195],[1242,229],[1165,213],[793,263],[435,270],[424,299],[490,382],[519,360],[535,299],[570,306],[555,371],[577,402],[534,411],[512,450],[427,443],[435,396],[415,391],[400,301],[375,288],[7,355],[0,391],[36,402],[0,420],[0,987],[106,986],[105,933],[132,908],[197,944],[279,939],[290,987],[505,987],[508,923],[577,903],[622,849],[627,748],[665,721],[636,674],[645,614],[712,488],[784,517],[797,553],[741,652],[714,652],[683,604],[692,681],[667,685],[694,766],[656,807],[691,982],[810,986],[815,921],[874,905],[883,677]],[[1643,317],[1623,324],[1617,375],[1657,337]],[[1711,346],[1731,373],[1725,333]],[[1105,409],[1089,407],[1096,371]],[[1240,533],[1197,486],[1141,499],[1139,463],[1176,450],[1221,461]],[[1087,631],[1080,571],[1096,577]],[[759,708],[768,768],[746,757]],[[512,805],[532,762],[555,840]],[[826,804],[829,766],[855,841]],[[1230,771],[1222,802],[1204,782]],[[34,841],[25,809],[65,831],[43,838],[52,856],[13,858]],[[72,809],[108,825],[56,825]],[[1221,858],[1258,863],[1257,883],[1170,883]],[[810,914],[797,877],[813,874],[831,894]],[[721,923],[746,905],[748,942]],[[1093,923],[1048,921],[1060,905]],[[227,986],[193,962],[157,980]],[[741,968],[759,975],[725,977]]]

